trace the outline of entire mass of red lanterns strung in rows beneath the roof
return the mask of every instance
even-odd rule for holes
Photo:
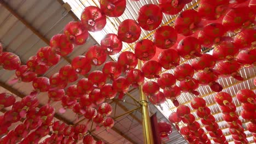
[[[173,101],[178,108],[177,113],[171,114],[170,122],[175,123],[177,129],[179,129],[178,122],[183,121],[188,124],[181,128],[181,133],[189,143],[211,143],[205,131],[200,128],[200,124],[190,113],[189,107],[179,105],[177,98],[181,92],[199,95],[199,92],[196,91],[199,85],[208,85],[212,91],[220,92],[223,89],[222,85],[216,82],[219,77],[231,76],[236,80],[243,80],[237,71],[241,67],[253,67],[256,60],[256,49],[252,45],[255,41],[255,1],[236,0],[230,3],[229,0],[218,2],[201,0],[197,10],[187,9],[179,14],[174,22],[174,27],[159,27],[162,13],[178,14],[189,2],[191,1],[161,0],[158,5],[144,5],[139,10],[137,21],[124,20],[120,23],[117,34],[105,35],[100,46],[91,46],[84,56],[73,58],[70,64],[64,65],[58,73],[49,78],[38,77],[38,75],[46,73],[50,67],[59,63],[60,57],[71,53],[74,50],[74,45],[85,44],[89,37],[88,31],[101,31],[106,25],[107,16],[121,16],[126,8],[125,0],[100,1],[100,8],[86,7],[81,21],[69,22],[65,26],[63,34],[54,35],[50,39],[50,46],[41,47],[37,55],[30,57],[25,65],[21,65],[20,58],[14,53],[2,52],[1,46],[1,67],[5,70],[16,70],[16,79],[11,80],[10,83],[32,82],[34,90],[30,95],[16,102],[13,95],[0,94],[0,109],[12,106],[11,110],[0,116],[0,126],[3,128],[0,130],[0,134],[7,134],[0,139],[0,143],[19,141],[30,143],[31,140],[38,142],[43,136],[50,133],[50,126],[53,128],[53,132],[42,143],[49,143],[49,141],[72,143],[82,139],[84,143],[94,143],[94,138],[91,135],[84,136],[90,121],[97,125],[103,124],[107,129],[114,125],[114,119],[109,117],[112,107],[104,101],[113,99],[117,95],[119,99],[123,99],[124,94],[131,86],[138,87],[140,85],[143,85],[142,91],[154,105],[160,105],[166,99]],[[123,42],[133,43],[138,40],[141,28],[146,31],[158,28],[154,33],[154,40],[140,40],[135,45],[134,53],[121,52],[117,62],[105,63],[107,55],[115,55],[122,50]],[[227,37],[227,33],[233,33],[235,36]],[[212,55],[202,53],[202,46],[214,47]],[[156,56],[157,59],[153,59],[159,49],[164,51]],[[181,57],[193,59],[192,64],[180,65]],[[141,70],[135,69],[138,59],[144,61]],[[104,64],[102,71],[95,70],[90,73],[92,65],[102,64]],[[162,73],[162,68],[174,69],[174,73]],[[197,71],[196,79],[193,78],[195,71]],[[122,73],[125,76],[121,76]],[[78,75],[85,77],[76,84],[68,86],[68,83],[78,80]],[[144,82],[145,77],[157,79],[157,81]],[[112,83],[106,83],[107,79]],[[176,85],[176,80],[179,81],[179,86]],[[160,88],[163,91],[160,91]],[[36,95],[40,92],[48,92],[49,103],[38,110],[36,107],[39,103]],[[252,93],[251,95],[253,95]],[[237,94],[237,99],[243,103],[244,109],[241,116],[251,121],[248,124],[248,130],[254,133],[255,141],[255,117],[252,117],[255,116],[255,111],[248,109],[248,107],[255,108],[255,94],[252,97],[248,96],[249,100],[245,100],[242,96],[239,99],[239,94]],[[62,108],[59,112],[64,113],[66,109],[72,109],[77,115],[84,115],[88,121],[84,125],[79,124],[74,127],[59,121],[53,122],[55,110],[50,106],[50,101],[61,101]],[[216,102],[218,103],[218,101]],[[222,111],[230,112],[232,110],[234,113],[234,104],[231,101],[228,102],[230,105],[224,106]],[[215,118],[211,115],[210,109],[204,104],[193,108],[197,110],[197,116],[202,118],[201,121],[206,125],[207,131],[211,131],[210,136],[214,137],[214,142],[225,141],[227,143]],[[236,119],[229,116],[224,114],[223,118],[230,120],[227,122],[240,121],[235,114]],[[25,118],[24,123],[8,132],[11,123],[18,122],[21,118]],[[233,126],[230,126],[231,130],[238,128]],[[160,122],[159,128],[162,137],[168,136],[172,130],[170,124],[165,122]],[[33,129],[36,130],[28,134]],[[248,143],[243,129],[238,130],[241,131],[239,134],[242,134],[242,137],[237,137],[235,132],[234,134],[230,132],[232,137],[235,137],[235,143]]]

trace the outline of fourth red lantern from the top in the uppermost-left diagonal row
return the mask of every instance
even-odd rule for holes
[[[52,50],[58,55],[67,56],[74,49],[74,45],[65,34],[56,34],[50,40]]]

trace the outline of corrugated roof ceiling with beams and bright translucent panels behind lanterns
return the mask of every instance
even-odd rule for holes
[[[83,0],[0,0],[0,41],[3,44],[4,51],[13,52],[21,58],[23,64],[26,63],[27,59],[35,55],[40,47],[49,45],[49,40],[53,35],[62,33],[63,27],[70,21],[77,21],[80,19],[80,15],[84,9],[89,5],[99,6],[98,1],[83,1]],[[67,2],[71,6],[71,10],[68,9]],[[193,0],[191,3],[187,4],[185,9],[196,9],[200,1]],[[117,28],[121,21],[125,19],[137,18],[137,11],[142,5],[147,3],[158,3],[156,0],[147,0],[147,1],[126,1],[126,10],[125,13],[118,18],[108,17],[107,25],[101,32],[90,33],[90,37],[87,40],[86,44],[82,46],[76,46],[74,51],[69,54],[67,57],[62,57],[61,61],[51,67],[43,76],[50,77],[52,74],[59,71],[59,69],[66,64],[69,64],[70,60],[75,56],[84,55],[88,51],[89,47],[96,45],[100,42],[104,34],[107,33],[117,33]],[[162,25],[173,25],[177,15],[164,15],[162,20]],[[152,40],[154,31],[144,31],[142,30],[141,39],[150,39]],[[100,36],[101,35],[101,36]],[[135,43],[126,44],[123,43],[122,51],[133,51],[133,46]],[[118,55],[109,56],[107,61],[116,61]],[[191,63],[185,59],[181,59],[182,63]],[[101,70],[100,67],[94,67],[93,70]],[[168,70],[168,73],[173,73],[173,70]],[[236,99],[235,94],[239,89],[248,88],[253,89],[254,92],[255,86],[253,85],[253,79],[255,77],[254,68],[242,68],[240,74],[245,79],[244,81],[237,81],[231,78],[220,78],[218,82],[223,86],[223,91],[232,95],[233,101],[237,106],[237,113],[240,113],[241,103]],[[15,94],[17,100],[21,100],[22,97],[30,94],[33,90],[31,83],[15,83],[14,85],[8,84],[8,81],[14,79],[15,71],[0,70],[0,93],[2,92],[11,92]],[[79,79],[82,79],[83,76],[80,76]],[[76,82],[74,82],[76,83]],[[70,83],[73,85],[74,83]],[[208,86],[200,86],[197,90],[200,93],[200,97],[204,98],[207,101],[207,106],[211,109],[212,115],[216,118],[216,121],[219,124],[220,129],[223,130],[226,139],[229,143],[234,143],[232,137],[228,131],[226,122],[223,121],[222,115],[220,113],[218,105],[215,103],[213,97],[215,92],[211,91]],[[48,103],[47,93],[40,93],[37,95],[37,98],[40,102],[40,106]],[[185,104],[190,106],[190,101],[194,96],[189,93],[182,93],[178,98],[180,104]],[[92,125],[90,134],[95,137],[95,139],[103,140],[106,143],[143,143],[143,131],[142,131],[142,114],[141,110],[138,109],[140,94],[138,89],[130,88],[130,91],[126,93],[125,100],[121,101],[118,99],[109,100],[113,107],[112,117],[115,118],[115,125],[109,131],[106,131],[104,127],[101,127],[99,130],[96,130],[96,125]],[[51,104],[55,107],[56,110],[59,110],[62,106],[61,103]],[[159,106],[150,104],[149,110],[150,114],[157,113],[159,121],[168,121],[167,117],[171,112],[176,111],[176,107],[172,104],[170,100],[167,100],[164,104],[161,105],[162,109]],[[191,108],[193,115],[196,117],[196,121],[200,119],[196,116],[195,111]],[[10,107],[7,109],[1,110],[0,115],[5,111],[10,110]],[[134,110],[134,111],[133,111]],[[126,112],[132,111],[131,113]],[[120,117],[119,117],[120,116]],[[243,122],[243,127],[246,129],[245,125],[247,121]],[[72,110],[67,110],[66,113],[56,112],[55,120],[63,121],[67,124],[78,124],[86,123],[86,120],[83,116],[80,116],[78,121]],[[16,125],[21,122],[14,123],[11,125],[10,130],[14,129]],[[180,126],[183,123],[179,124]],[[203,128],[204,125],[201,124]],[[163,143],[173,143],[173,144],[184,144],[188,143],[185,141],[184,137],[179,134],[176,128],[172,128],[172,134],[169,135],[169,139],[165,139]],[[204,129],[204,128],[203,128]],[[207,132],[206,132],[207,133]],[[250,143],[253,143],[253,137],[249,131],[245,131],[247,134],[247,139]],[[2,135],[3,136],[3,135]],[[0,136],[0,137],[2,137]],[[211,139],[211,137],[208,135]],[[46,137],[44,137],[45,139]],[[43,140],[43,139],[42,139]],[[212,139],[211,139],[212,140]],[[79,142],[82,143],[82,142]],[[212,141],[212,143],[214,143]]]

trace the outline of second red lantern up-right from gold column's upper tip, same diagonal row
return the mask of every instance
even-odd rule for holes
[[[154,33],[154,43],[160,49],[169,49],[177,41],[177,33],[171,26],[161,26]]]

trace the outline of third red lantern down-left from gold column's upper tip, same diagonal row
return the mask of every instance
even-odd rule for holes
[[[88,80],[92,83],[92,85],[98,88],[105,85],[106,79],[106,75],[104,75],[100,70],[92,71],[88,76]]]

